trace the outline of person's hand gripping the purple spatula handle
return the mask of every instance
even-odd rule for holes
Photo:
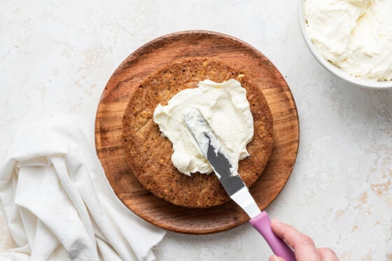
[[[337,255],[330,248],[316,248],[313,239],[302,234],[294,227],[281,223],[273,219],[271,223],[272,231],[276,236],[285,240],[288,246],[294,249],[297,261],[337,261]],[[269,257],[269,261],[286,261],[276,255]]]

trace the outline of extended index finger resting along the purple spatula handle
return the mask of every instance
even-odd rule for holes
[[[320,260],[313,239],[306,234],[276,219],[272,220],[271,227],[276,236],[284,239],[294,249],[297,260]]]

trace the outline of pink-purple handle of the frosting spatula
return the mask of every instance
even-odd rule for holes
[[[287,261],[295,261],[293,249],[272,232],[271,220],[269,219],[267,212],[262,211],[258,216],[252,218],[249,223],[251,223],[252,227],[254,227],[262,237],[264,237],[275,255],[278,255]]]

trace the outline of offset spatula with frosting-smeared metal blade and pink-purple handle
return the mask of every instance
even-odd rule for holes
[[[202,113],[196,108],[190,109],[184,115],[184,120],[204,157],[207,158],[221,181],[223,188],[251,218],[249,223],[264,237],[275,255],[285,258],[287,261],[295,261],[293,249],[272,232],[268,214],[265,211],[260,211],[241,177],[237,173],[233,173],[230,160],[225,156],[221,143],[216,139]]]

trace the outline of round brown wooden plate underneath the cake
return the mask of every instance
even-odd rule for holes
[[[212,57],[233,64],[262,83],[274,118],[274,146],[264,173],[250,188],[260,209],[265,209],[283,189],[293,170],[299,145],[295,102],[281,73],[251,45],[211,31],[181,31],[157,38],[132,53],[107,83],[95,121],[95,143],[114,192],[144,220],[174,232],[209,234],[249,220],[234,202],[209,209],[175,206],[155,197],[130,171],[122,143],[123,115],[139,84],[156,69],[183,57]]]

